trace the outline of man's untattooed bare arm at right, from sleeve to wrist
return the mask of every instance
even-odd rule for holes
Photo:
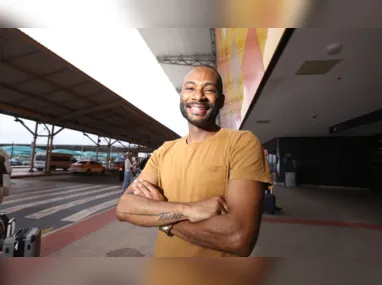
[[[233,180],[229,182],[228,213],[198,223],[176,223],[171,233],[202,247],[238,256],[251,254],[261,223],[261,202],[264,190],[260,182]]]

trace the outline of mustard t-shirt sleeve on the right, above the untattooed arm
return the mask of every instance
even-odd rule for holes
[[[243,132],[230,153],[230,180],[254,180],[272,184],[268,161],[258,138]]]

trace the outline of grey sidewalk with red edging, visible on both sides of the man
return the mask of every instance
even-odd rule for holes
[[[251,256],[380,257],[381,198],[369,192],[276,187],[281,215],[264,215]],[[46,235],[42,256],[153,256],[157,230],[115,220],[115,209]]]

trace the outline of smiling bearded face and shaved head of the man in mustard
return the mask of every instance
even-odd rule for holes
[[[195,67],[184,78],[180,98],[183,117],[198,128],[215,124],[224,105],[222,80],[209,67]]]

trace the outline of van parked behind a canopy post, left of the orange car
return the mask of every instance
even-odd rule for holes
[[[38,171],[45,169],[46,153],[38,152],[34,157],[34,167]],[[50,155],[50,170],[56,169],[68,170],[73,162],[76,162],[73,155],[65,153],[52,153]]]

